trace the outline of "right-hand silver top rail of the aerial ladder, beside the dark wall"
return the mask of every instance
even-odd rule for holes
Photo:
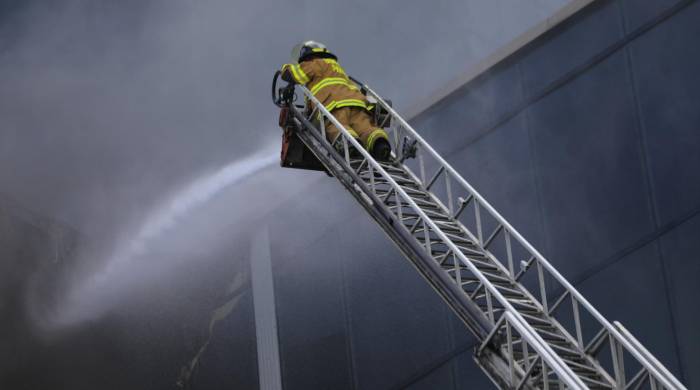
[[[457,185],[452,185],[451,188],[448,189],[448,191],[452,191],[454,187],[461,186],[462,190],[466,191],[468,197],[472,198],[473,202],[475,202],[475,208],[477,208],[477,238],[479,240],[480,244],[483,244],[483,236],[481,234],[482,231],[482,225],[481,221],[479,221],[480,217],[480,210],[485,210],[493,219],[496,220],[498,224],[502,226],[502,230],[504,232],[504,235],[506,237],[509,237],[510,239],[506,239],[506,249],[508,253],[512,253],[512,242],[516,241],[526,252],[529,253],[530,256],[534,257],[536,264],[539,267],[542,267],[541,269],[547,271],[547,274],[550,275],[554,280],[556,280],[570,296],[572,297],[572,307],[575,310],[575,313],[578,310],[578,306],[580,308],[584,309],[587,313],[590,314],[593,319],[595,319],[598,324],[605,329],[606,333],[612,337],[616,343],[619,343],[622,348],[624,348],[625,351],[627,351],[631,356],[633,356],[637,362],[644,367],[644,369],[647,370],[647,372],[654,377],[656,381],[659,382],[659,384],[663,385],[664,388],[668,389],[681,389],[681,390],[687,390],[680,382],[672,375],[670,372],[663,367],[659,363],[663,369],[659,369],[656,364],[654,364],[648,357],[647,354],[644,353],[643,350],[640,349],[641,344],[635,345],[634,343],[631,343],[628,338],[623,336],[617,328],[615,328],[598,310],[590,303],[586,298],[578,291],[576,288],[574,288],[568,280],[566,280],[560,273],[557,271],[551,263],[537,250],[535,247],[530,244],[521,234],[520,232],[517,231],[503,216],[481,195],[479,192],[476,191],[472,187],[471,184],[469,184],[447,161],[445,161],[442,156],[440,156],[433,148],[428,144],[423,137],[418,134],[418,132],[413,129],[413,127],[405,120],[403,119],[390,105],[386,103],[386,101],[379,96],[374,90],[372,90],[370,87],[368,87],[366,84],[359,84],[365,91],[367,91],[367,94],[369,96],[372,96],[376,101],[377,104],[380,105],[385,111],[391,115],[392,122],[396,121],[400,125],[400,128],[397,126],[395,131],[399,132],[399,130],[402,128],[405,130],[410,137],[415,140],[419,147],[417,153],[417,157],[419,158],[420,164],[421,164],[421,170],[423,169],[424,166],[424,158],[423,157],[423,152],[427,152],[427,154],[433,158],[437,164],[439,165],[438,167],[438,174],[440,171],[445,172],[446,175],[450,175],[452,177],[452,181],[456,182]],[[307,95],[308,96],[308,95]],[[398,136],[396,137],[398,139]],[[398,145],[397,145],[398,148]],[[423,183],[425,183],[425,175],[421,174],[421,179]],[[454,195],[452,193],[449,193],[448,196],[450,198],[453,198]],[[486,248],[484,248],[486,249]],[[500,262],[500,261],[499,261]],[[512,259],[508,259],[509,263],[512,263]],[[501,264],[503,264],[501,262]],[[532,265],[532,264],[530,264]],[[508,267],[512,269],[510,266]],[[511,276],[515,277],[516,275],[513,274],[514,270],[511,271]],[[540,285],[540,288],[542,292],[545,292],[545,281],[543,277],[540,277],[538,280],[538,283]],[[546,299],[547,296],[546,294],[542,294],[542,299],[543,299],[543,306],[545,309],[547,309],[546,305]],[[515,311],[515,310],[514,310]],[[515,311],[517,313],[517,311]],[[576,338],[580,339],[581,338],[581,323],[580,323],[580,314],[576,314],[576,319],[575,319],[575,327],[576,331],[573,333],[576,333]],[[617,360],[621,359],[620,354],[613,353],[612,358],[613,358],[613,363],[615,364],[615,367],[618,367],[618,362]],[[624,375],[624,372],[622,373],[616,373],[616,374],[622,374]]]

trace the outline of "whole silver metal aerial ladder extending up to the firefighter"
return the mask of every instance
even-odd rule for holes
[[[326,171],[386,232],[478,340],[500,389],[686,389],[609,322],[391,106],[352,79],[390,135],[375,160],[304,86],[272,85],[282,166]],[[297,97],[303,102],[297,102]],[[340,130],[334,144],[326,126]]]

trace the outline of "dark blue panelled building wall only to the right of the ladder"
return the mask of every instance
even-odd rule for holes
[[[690,388],[700,385],[698,17],[692,1],[594,2],[415,121]]]

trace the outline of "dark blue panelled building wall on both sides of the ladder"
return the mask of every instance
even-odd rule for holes
[[[698,20],[694,1],[595,1],[413,119],[689,388],[700,386]],[[267,218],[287,238],[272,248],[284,388],[490,388],[466,329],[353,202],[324,177]]]

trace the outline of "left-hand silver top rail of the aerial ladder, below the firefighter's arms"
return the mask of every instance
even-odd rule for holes
[[[491,283],[491,281],[483,275],[481,271],[479,271],[476,266],[469,261],[467,256],[465,256],[459,248],[450,240],[445,233],[442,231],[442,229],[435,224],[435,222],[428,217],[425,212],[415,203],[415,201],[404,191],[404,189],[393,179],[393,177],[386,172],[386,170],[379,164],[377,163],[374,158],[360,145],[360,143],[355,140],[353,136],[350,135],[350,133],[345,129],[345,127],[316,99],[316,97],[309,91],[306,87],[304,86],[299,86],[303,94],[305,95],[306,99],[308,99],[309,102],[313,104],[313,111],[312,115],[314,113],[318,114],[319,117],[324,118],[324,122],[330,122],[332,123],[338,130],[341,139],[339,139],[342,142],[343,150],[341,153],[341,156],[345,159],[346,163],[349,165],[350,164],[350,157],[349,157],[349,147],[352,146],[354,147],[358,153],[362,155],[362,157],[365,159],[367,162],[368,166],[370,168],[370,175],[373,173],[377,173],[381,175],[381,177],[392,187],[394,190],[396,196],[400,196],[399,202],[397,204],[402,204],[403,202],[406,202],[406,204],[410,207],[412,212],[416,213],[419,217],[420,220],[422,221],[422,224],[424,225],[424,228],[427,226],[430,227],[433,233],[435,233],[442,243],[446,245],[453,253],[454,256],[459,258],[460,262],[466,266],[469,271],[479,279],[479,282],[484,286],[485,290],[488,290],[488,293],[491,294],[493,298],[496,298],[499,303],[505,308],[505,312],[510,312],[511,313],[511,323],[517,323],[521,328],[527,328],[527,322],[525,319],[522,318],[520,313],[515,310],[515,308],[511,305],[511,303],[500,293],[500,291],[494,287],[494,285]],[[382,101],[383,102],[383,101]],[[386,104],[386,103],[384,103]],[[392,110],[393,111],[393,110]],[[395,115],[395,112],[392,112],[392,114]],[[321,130],[322,134],[325,134],[325,129]],[[337,142],[337,140],[336,140]],[[374,193],[376,190],[376,186],[370,186],[370,190]],[[399,220],[401,220],[402,217],[402,208],[403,206],[397,207],[397,213],[399,216]],[[401,224],[403,226],[403,224]],[[403,226],[404,229],[406,229],[405,226]],[[426,238],[428,237],[428,231],[426,230]],[[426,247],[427,251],[430,252],[430,240],[426,239]],[[491,320],[491,323],[495,323],[495,315],[493,308],[489,308],[490,311],[490,316],[489,319]],[[531,336],[531,340],[539,345],[538,350],[544,350],[547,351],[549,359],[550,360],[555,360],[556,364],[553,364],[553,368],[556,368],[557,370],[560,370],[557,372],[557,375],[559,377],[572,377],[574,379],[574,384],[576,385],[575,389],[587,389],[588,387],[583,384],[580,378],[576,376],[573,371],[561,360],[561,358],[552,351],[551,347],[542,339],[542,337],[536,333],[529,333]]]

